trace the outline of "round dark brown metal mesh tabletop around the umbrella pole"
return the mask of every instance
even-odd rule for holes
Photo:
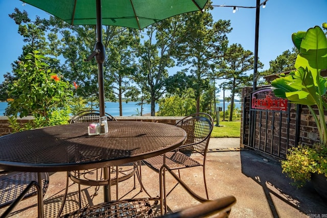
[[[0,137],[0,169],[59,172],[143,160],[182,145],[186,132],[151,122],[108,122],[108,133],[88,135],[90,123],[44,127]]]

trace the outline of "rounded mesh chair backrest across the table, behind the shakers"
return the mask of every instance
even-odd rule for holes
[[[105,113],[108,121],[117,121],[112,115]],[[87,110],[76,114],[71,119],[71,124],[74,123],[87,123],[87,122],[98,122],[100,120],[100,111],[98,110]]]

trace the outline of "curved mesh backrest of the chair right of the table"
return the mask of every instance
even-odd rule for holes
[[[176,126],[185,130],[188,135],[182,147],[188,147],[205,155],[214,128],[212,116],[207,113],[194,113],[179,120]]]

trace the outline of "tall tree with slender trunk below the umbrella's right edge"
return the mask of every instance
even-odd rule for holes
[[[147,39],[138,47],[139,70],[134,80],[141,90],[150,95],[151,116],[155,115],[155,103],[166,92],[167,68],[175,65],[172,54],[179,45],[181,16],[165,19],[148,27]]]

